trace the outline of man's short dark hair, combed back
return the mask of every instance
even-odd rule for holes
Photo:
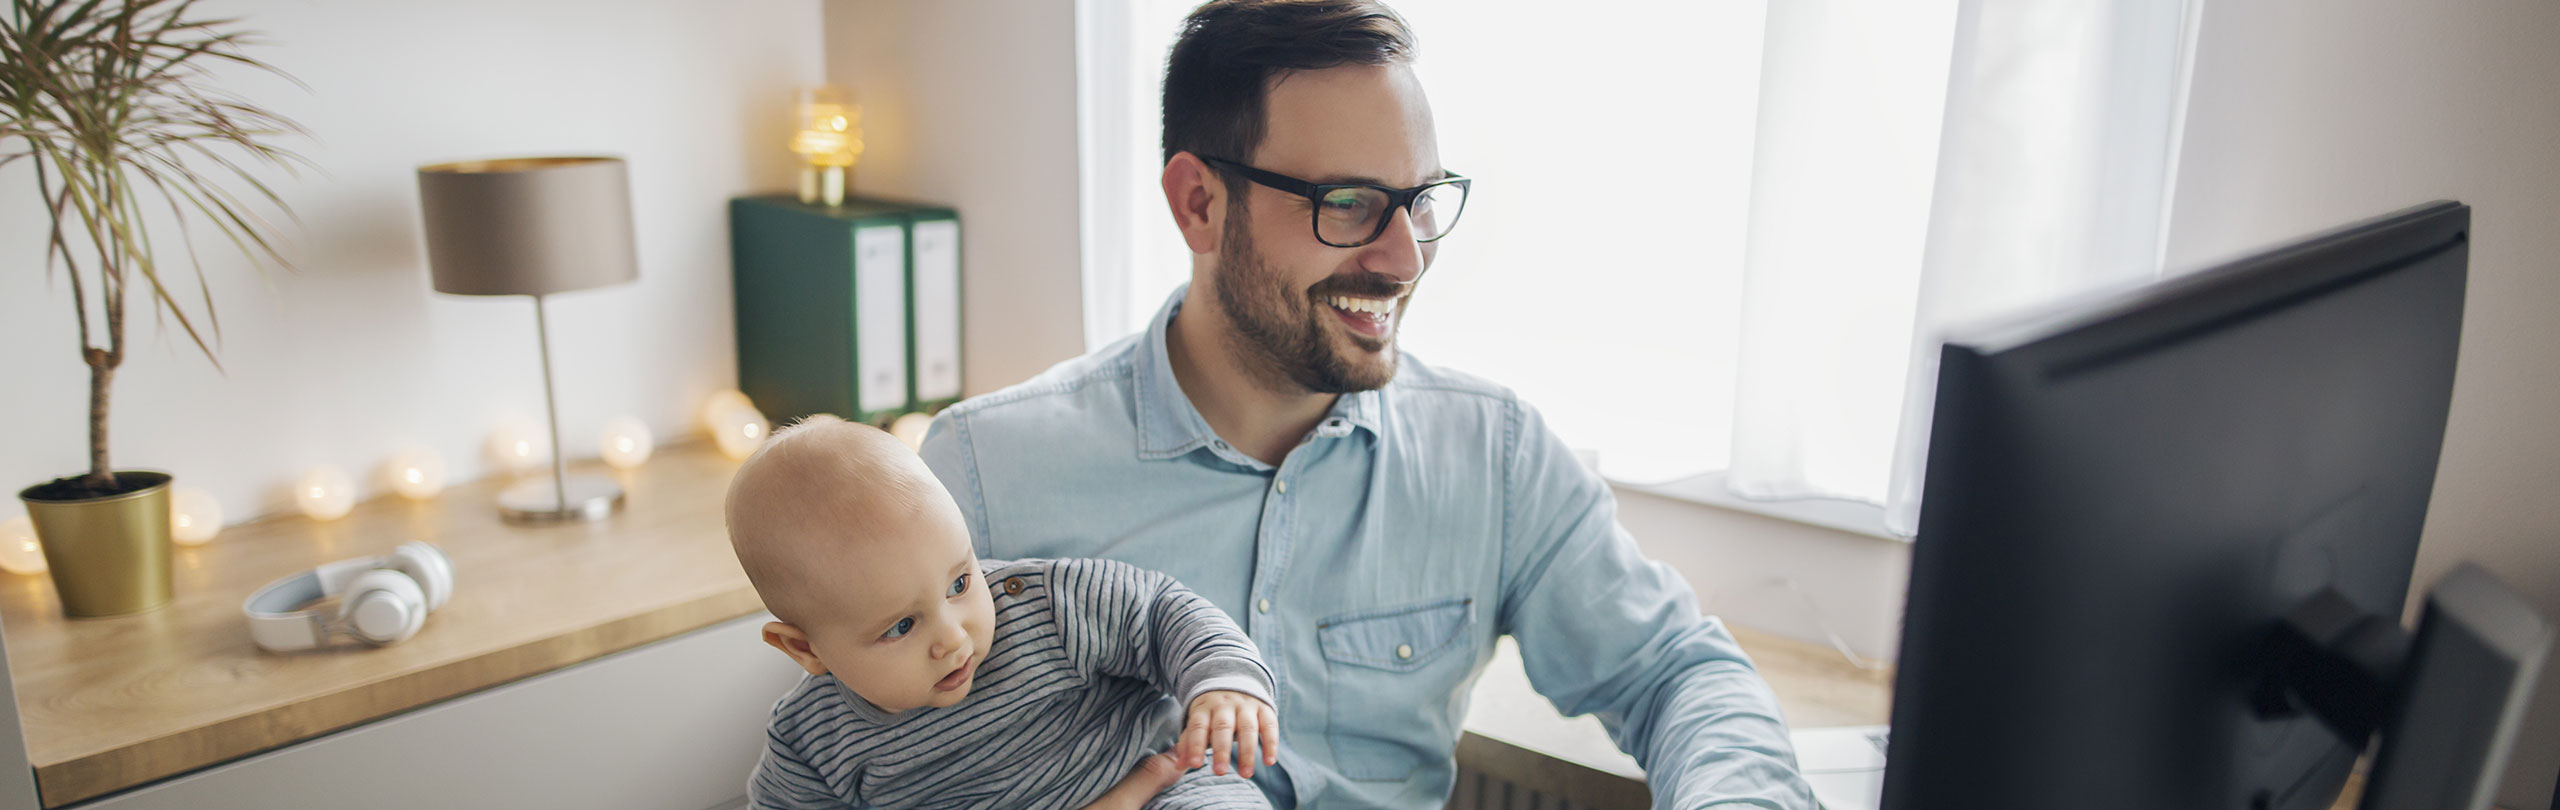
[[[1190,151],[1252,161],[1275,74],[1411,59],[1413,31],[1385,3],[1201,3],[1165,56],[1165,159]],[[1229,190],[1242,185],[1226,177]]]

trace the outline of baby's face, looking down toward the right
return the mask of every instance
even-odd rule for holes
[[[804,628],[809,646],[855,695],[881,710],[968,700],[996,636],[996,600],[978,574],[968,525],[950,497],[881,515],[842,572],[845,610]]]

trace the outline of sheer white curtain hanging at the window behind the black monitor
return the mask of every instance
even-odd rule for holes
[[[2202,0],[1964,0],[1910,87],[1843,59],[1935,36],[1889,0],[1769,10],[1728,482],[1746,497],[1851,497],[1912,533],[1948,326],[2150,279]],[[1897,23],[1879,21],[1905,15]],[[1912,128],[1910,97],[1940,95]],[[1879,197],[1912,172],[1928,200]]]

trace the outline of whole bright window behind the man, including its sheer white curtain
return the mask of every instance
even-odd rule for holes
[[[1093,349],[1190,277],[1157,103],[1193,5],[1080,5]],[[1475,177],[1400,343],[1613,479],[1910,531],[1940,328],[2158,272],[2196,3],[1393,5]]]

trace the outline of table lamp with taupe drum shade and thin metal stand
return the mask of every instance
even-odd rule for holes
[[[550,384],[543,297],[640,277],[632,249],[630,172],[612,156],[525,156],[417,167],[435,292],[532,295],[550,479],[499,492],[512,523],[602,520],[622,505],[607,477],[571,477],[561,456],[561,402]]]

